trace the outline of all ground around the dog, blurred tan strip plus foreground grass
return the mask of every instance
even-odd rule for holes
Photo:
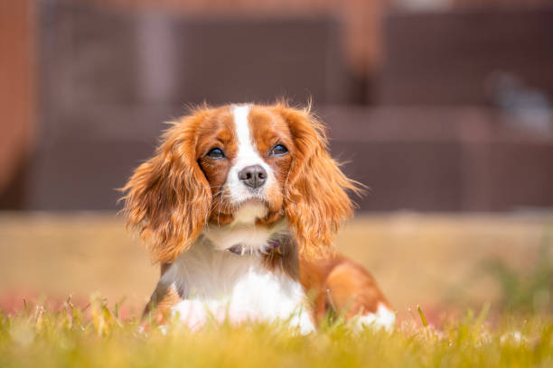
[[[398,326],[299,336],[254,322],[139,332],[159,270],[120,217],[0,214],[0,367],[553,367],[552,220],[357,216],[336,244],[375,275]]]

